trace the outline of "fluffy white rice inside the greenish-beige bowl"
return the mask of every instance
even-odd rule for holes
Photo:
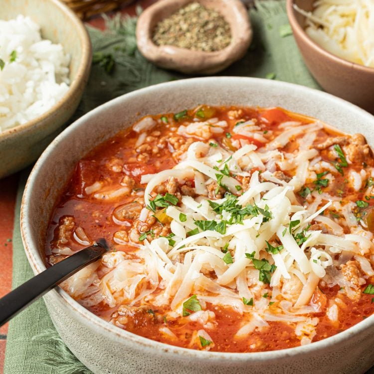
[[[70,56],[29,17],[0,20],[0,59],[0,132],[48,111],[69,89]]]

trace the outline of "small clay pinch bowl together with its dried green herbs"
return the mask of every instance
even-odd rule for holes
[[[140,15],[136,36],[160,67],[213,74],[245,54],[252,28],[240,0],[161,0]]]

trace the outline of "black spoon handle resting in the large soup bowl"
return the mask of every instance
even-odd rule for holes
[[[105,239],[99,239],[90,247],[74,253],[9,292],[0,299],[0,326],[66,278],[100,258],[107,250]]]

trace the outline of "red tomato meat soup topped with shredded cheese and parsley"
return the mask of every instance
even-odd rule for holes
[[[373,167],[362,135],[280,108],[147,116],[78,163],[47,260],[106,238],[110,251],[62,287],[149,339],[309,344],[374,311]]]

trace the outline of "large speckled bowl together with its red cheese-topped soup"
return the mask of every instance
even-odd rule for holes
[[[151,86],[76,121],[21,208],[35,274],[109,243],[44,296],[66,345],[100,374],[369,369],[373,124],[243,77]]]

